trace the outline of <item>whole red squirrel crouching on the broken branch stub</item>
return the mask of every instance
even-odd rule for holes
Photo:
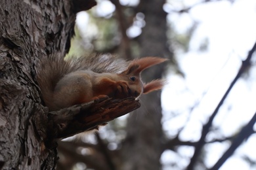
[[[37,82],[49,110],[59,110],[102,97],[123,99],[160,90],[164,80],[144,84],[140,73],[165,58],[125,61],[108,54],[62,59],[51,56],[39,63]]]

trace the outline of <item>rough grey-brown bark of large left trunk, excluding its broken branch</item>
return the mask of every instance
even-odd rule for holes
[[[54,10],[60,5],[61,10]],[[1,1],[0,133],[3,169],[53,169],[56,149],[43,144],[47,116],[34,81],[35,59],[67,45],[63,1]],[[58,16],[58,19],[57,17]],[[62,18],[66,18],[62,20]],[[66,24],[70,22],[72,24]],[[70,29],[68,29],[70,30]],[[72,30],[72,29],[71,29]],[[65,35],[66,36],[63,36]]]

